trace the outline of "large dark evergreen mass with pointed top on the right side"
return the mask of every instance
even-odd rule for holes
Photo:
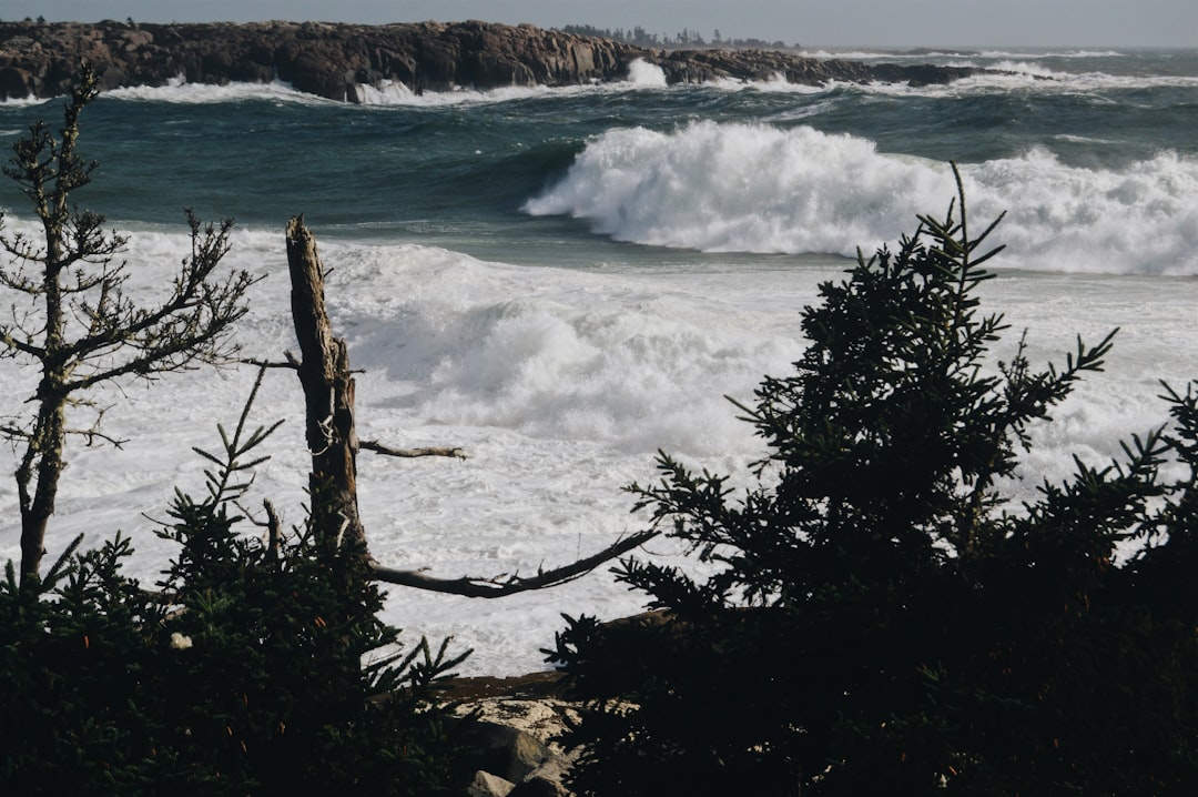
[[[960,183],[958,183],[960,186]],[[616,570],[657,622],[567,618],[582,795],[1132,795],[1198,781],[1198,397],[1017,507],[1030,424],[1111,346],[987,367],[998,250],[960,215],[821,286],[794,373],[738,405],[755,487],[667,454],[637,508],[713,574]],[[1162,476],[1181,473],[1175,481]],[[1172,478],[1172,477],[1170,477]],[[1121,543],[1138,554],[1117,566]],[[1191,574],[1187,578],[1186,574]]]

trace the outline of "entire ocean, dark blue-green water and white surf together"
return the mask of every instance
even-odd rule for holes
[[[1034,363],[1119,327],[1008,487],[1030,497],[1073,457],[1120,455],[1166,419],[1161,381],[1198,376],[1198,50],[815,53],[1002,71],[946,86],[667,87],[637,65],[621,84],[364,90],[364,104],[286,85],[127,89],[86,109],[101,163],[74,199],[129,235],[131,289],[158,295],[188,253],[183,209],[237,221],[230,266],[265,277],[236,332],[249,357],[296,350],[284,225],[303,213],[333,324],[358,375],[363,439],[461,446],[468,458],[363,452],[359,499],[375,556],[432,575],[532,574],[642,529],[623,487],[664,449],[744,477],[762,453],[725,397],[751,400],[804,348],[821,282],[943,215],[962,171],[974,229],[1005,212],[984,310],[1025,331]],[[0,104],[7,147],[61,99]],[[0,185],[5,231],[34,233]],[[7,256],[7,255],[0,255]],[[8,296],[2,312],[8,313]],[[0,360],[0,415],[26,410],[35,373]],[[199,493],[193,446],[219,445],[253,369],[131,382],[97,397],[120,448],[67,453],[50,560],[78,533],[122,530],[147,584],[173,555],[153,535],[175,487]],[[303,519],[307,454],[294,374],[267,376],[253,421],[267,443],[255,501]],[[78,424],[86,422],[78,416]],[[11,472],[16,459],[4,449]],[[250,508],[253,508],[252,505]],[[0,560],[19,556],[16,487],[0,479]],[[247,526],[248,533],[258,530]],[[641,553],[697,567],[666,542]],[[474,648],[461,672],[544,669],[561,612],[641,610],[606,568],[497,600],[395,588],[386,618],[411,642]]]

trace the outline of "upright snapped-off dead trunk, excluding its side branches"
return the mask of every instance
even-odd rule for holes
[[[358,515],[353,378],[344,338],[333,337],[325,312],[325,270],[303,217],[288,222],[291,318],[300,340],[305,436],[311,453],[308,489],[320,539],[334,550],[367,555]]]

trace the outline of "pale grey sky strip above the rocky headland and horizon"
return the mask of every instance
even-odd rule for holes
[[[528,22],[640,25],[803,47],[1198,47],[1198,0],[4,0],[50,22]]]

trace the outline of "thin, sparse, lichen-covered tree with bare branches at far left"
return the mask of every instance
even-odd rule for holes
[[[67,435],[120,445],[101,430],[103,410],[89,398],[102,382],[155,379],[230,356],[231,325],[246,313],[244,294],[255,282],[243,271],[216,276],[229,252],[231,221],[202,225],[190,211],[192,252],[167,296],[141,306],[126,295],[128,273],[117,255],[125,236],[103,229],[103,216],[74,207],[72,193],[91,182],[98,165],[77,151],[79,114],[98,95],[86,66],[66,107],[60,135],[35,122],[13,145],[4,174],[32,201],[41,233],[7,235],[0,215],[0,289],[13,294],[0,321],[0,357],[41,369],[29,399],[30,417],[0,425],[19,454],[16,472],[22,519],[20,575],[38,575],[47,523],[54,514],[66,466]],[[90,411],[91,425],[67,425],[67,411]]]

